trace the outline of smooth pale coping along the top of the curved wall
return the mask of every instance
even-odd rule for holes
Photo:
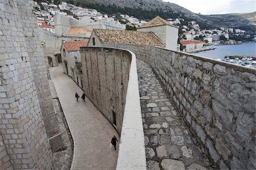
[[[146,170],[144,131],[142,126],[141,102],[139,98],[138,74],[135,54],[127,49],[108,47],[80,47],[80,51],[91,48],[122,50],[131,54],[129,82],[126,94],[125,112],[117,159],[118,170]]]

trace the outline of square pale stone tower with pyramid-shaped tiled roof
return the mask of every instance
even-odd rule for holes
[[[143,26],[137,28],[139,32],[154,32],[154,34],[166,44],[167,49],[177,49],[179,27],[172,25],[160,16],[156,16]]]

